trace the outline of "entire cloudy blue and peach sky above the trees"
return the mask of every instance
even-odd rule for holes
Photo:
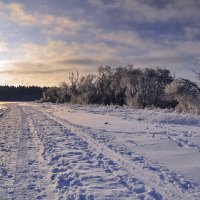
[[[199,0],[0,0],[0,85],[55,86],[99,66],[195,81]]]

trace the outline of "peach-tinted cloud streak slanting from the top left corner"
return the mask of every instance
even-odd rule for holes
[[[41,26],[43,33],[49,35],[74,34],[86,22],[75,21],[67,17],[54,16],[41,13],[29,13],[23,4],[2,3],[0,11],[4,18],[22,26]]]

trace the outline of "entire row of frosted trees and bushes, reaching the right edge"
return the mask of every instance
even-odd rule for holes
[[[133,108],[176,108],[200,113],[200,89],[175,79],[168,69],[101,66],[98,75],[72,72],[69,84],[48,88],[41,102],[127,105]]]

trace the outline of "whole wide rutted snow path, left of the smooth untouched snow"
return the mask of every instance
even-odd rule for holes
[[[73,124],[41,106],[8,107],[0,118],[2,200],[200,197],[198,185],[105,130]]]

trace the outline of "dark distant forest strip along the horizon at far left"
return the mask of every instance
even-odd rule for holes
[[[0,101],[35,101],[47,88],[38,86],[0,86]]]

